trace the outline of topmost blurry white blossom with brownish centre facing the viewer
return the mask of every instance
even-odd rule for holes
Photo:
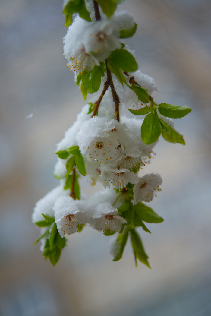
[[[84,35],[85,49],[99,61],[104,61],[110,53],[121,48],[119,32],[112,21],[99,21],[89,27]]]

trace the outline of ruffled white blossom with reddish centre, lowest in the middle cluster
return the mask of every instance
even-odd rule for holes
[[[103,180],[106,178],[104,184],[107,184],[109,188],[112,184],[114,185],[114,190],[119,189],[119,191],[125,188],[128,182],[133,184],[138,183],[135,173],[125,168],[104,169],[100,177]]]

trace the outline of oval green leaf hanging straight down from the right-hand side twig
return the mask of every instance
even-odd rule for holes
[[[148,114],[141,127],[142,141],[146,145],[154,143],[159,138],[161,131],[160,120],[157,114]]]

